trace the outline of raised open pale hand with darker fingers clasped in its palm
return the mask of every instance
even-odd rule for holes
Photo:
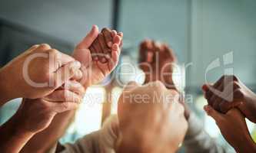
[[[93,26],[89,34],[75,47],[73,57],[82,63],[81,83],[88,87],[101,82],[118,63],[122,33],[108,28],[98,32]]]

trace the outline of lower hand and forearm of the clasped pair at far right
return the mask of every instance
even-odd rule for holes
[[[256,145],[248,131],[244,115],[239,109],[230,109],[226,114],[217,112],[211,106],[204,106],[204,110],[215,120],[221,134],[235,151],[238,153],[256,151]]]

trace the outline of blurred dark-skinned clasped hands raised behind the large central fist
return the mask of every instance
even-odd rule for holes
[[[172,73],[177,58],[171,47],[152,40],[142,41],[139,47],[139,67],[145,73],[145,83],[160,80],[166,88],[177,90]],[[177,90],[178,91],[178,90]],[[190,109],[185,104],[184,99],[181,103],[185,106],[185,117],[189,118]]]

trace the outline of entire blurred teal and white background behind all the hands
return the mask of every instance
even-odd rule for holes
[[[136,64],[138,44],[146,37],[167,42],[185,68],[182,89],[191,96],[191,109],[209,134],[227,145],[203,112],[206,101],[201,85],[218,80],[227,70],[256,92],[255,8],[255,0],[1,0],[0,66],[33,44],[47,43],[71,54],[92,24],[124,33],[121,62]],[[205,73],[215,60],[219,67]],[[125,83],[134,76],[118,77]],[[89,88],[62,142],[74,142],[100,129],[106,117],[116,112],[121,88],[116,83]],[[100,98],[88,104],[94,95]],[[16,111],[18,101],[0,110],[1,124]],[[248,126],[255,135],[254,124],[248,122]]]

